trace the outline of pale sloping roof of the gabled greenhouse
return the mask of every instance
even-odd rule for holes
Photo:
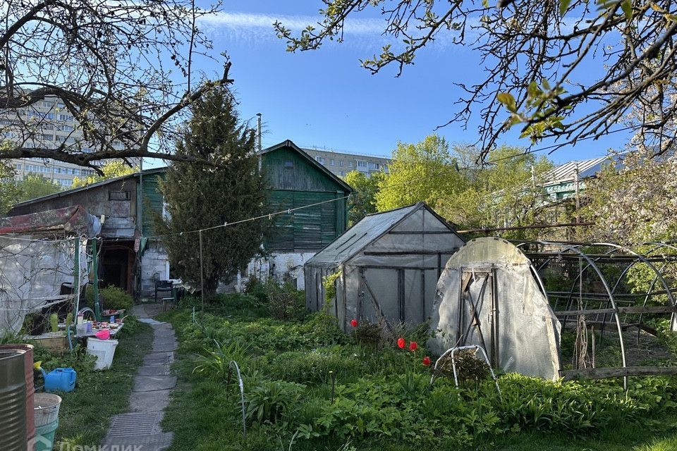
[[[435,218],[444,224],[449,230],[456,233],[444,218],[441,218],[425,202],[403,206],[398,209],[384,211],[382,213],[368,214],[355,226],[346,230],[327,247],[317,252],[306,264],[342,263],[358,254],[371,242],[378,240],[382,235],[401,223],[405,218],[420,209],[427,209]]]

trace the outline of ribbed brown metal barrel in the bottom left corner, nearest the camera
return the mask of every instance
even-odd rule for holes
[[[27,451],[25,350],[0,350],[0,450]]]

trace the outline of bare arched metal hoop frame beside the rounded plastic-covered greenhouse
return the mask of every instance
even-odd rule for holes
[[[627,386],[628,376],[677,374],[677,367],[629,366],[626,338],[623,337],[623,332],[630,328],[637,328],[637,342],[642,331],[656,335],[657,331],[642,321],[647,314],[671,314],[671,330],[675,330],[677,309],[674,292],[677,288],[674,281],[666,276],[666,268],[677,262],[676,245],[647,242],[641,246],[642,252],[609,242],[533,241],[519,242],[517,246],[532,261],[532,273],[560,319],[563,330],[573,323],[580,333],[579,324],[585,327],[592,325],[592,340],[594,326],[599,327],[600,340],[604,339],[609,326],[618,333],[620,368],[595,368],[593,341],[591,367],[586,368],[583,364],[583,367],[561,371],[561,376],[623,376],[623,385]],[[626,276],[638,264],[645,265],[652,275],[651,281],[645,292],[629,292]],[[561,274],[561,280],[568,280],[569,288],[547,290],[543,276],[547,275],[547,271],[558,270],[563,273],[568,271],[568,277]],[[652,305],[658,303],[660,305]]]

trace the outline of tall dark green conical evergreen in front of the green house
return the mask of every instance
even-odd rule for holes
[[[161,183],[166,217],[157,230],[169,252],[173,271],[182,280],[200,283],[200,234],[205,292],[231,279],[257,254],[265,223],[243,219],[260,216],[266,186],[258,171],[254,134],[240,121],[227,89],[214,89],[193,104],[193,116],[182,130],[176,154],[214,163],[174,161]]]

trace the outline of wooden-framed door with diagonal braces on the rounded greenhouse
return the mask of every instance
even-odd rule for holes
[[[480,345],[492,366],[499,366],[499,301],[496,270],[480,268],[461,271],[458,297],[458,346]]]

